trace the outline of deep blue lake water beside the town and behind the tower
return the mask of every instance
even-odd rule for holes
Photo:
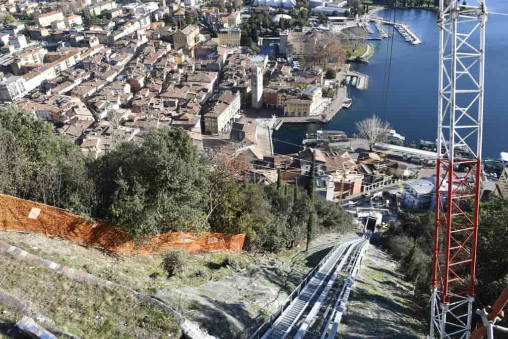
[[[505,0],[487,1],[491,12],[508,13]],[[376,13],[393,19],[392,10]],[[411,26],[422,40],[411,45],[395,31],[392,72],[388,93],[386,119],[397,132],[406,137],[407,144],[420,139],[434,141],[437,131],[438,84],[438,30],[437,14],[427,10],[397,10],[396,21]],[[387,30],[389,26],[386,26]],[[373,28],[374,32],[376,29]],[[391,32],[391,27],[390,27]],[[498,158],[499,152],[508,151],[508,110],[503,98],[508,98],[508,18],[490,15],[486,26],[485,104],[483,156]],[[355,121],[376,114],[383,116],[382,95],[389,40],[370,41],[374,55],[370,64],[355,64],[354,69],[370,77],[366,91],[350,89],[353,106],[341,110],[328,124],[285,124],[273,135],[274,139],[300,145],[305,133],[319,129],[342,130],[351,135],[356,131]],[[298,146],[274,140],[277,153],[299,150]]]

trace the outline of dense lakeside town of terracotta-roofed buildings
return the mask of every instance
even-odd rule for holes
[[[200,150],[246,159],[251,181],[272,183],[279,173],[305,185],[315,150],[314,190],[327,200],[387,189],[401,193],[404,205],[432,207],[435,157],[425,151],[372,151],[345,134],[337,138],[341,131],[310,137],[317,145],[298,153],[273,149],[281,124],[328,121],[351,105],[347,85],[355,72],[341,45],[362,44],[365,36],[337,32],[369,30],[368,7],[321,0],[300,11],[295,1],[250,5],[5,1],[0,100],[52,123],[57,136],[96,159],[152,128],[181,128]],[[262,54],[269,30],[278,36],[276,52]],[[356,74],[360,90],[368,78]],[[502,180],[487,186],[505,194]]]

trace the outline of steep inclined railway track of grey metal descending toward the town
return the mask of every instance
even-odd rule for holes
[[[334,338],[369,237],[335,246],[250,339]]]

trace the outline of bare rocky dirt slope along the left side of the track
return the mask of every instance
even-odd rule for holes
[[[338,242],[358,237],[355,233],[326,234],[313,240],[309,252],[304,246],[282,255],[270,255],[256,266],[233,276],[198,287],[162,289],[157,296],[168,302],[179,294],[186,300],[185,317],[209,334],[239,338],[254,332],[301,282],[306,273]]]

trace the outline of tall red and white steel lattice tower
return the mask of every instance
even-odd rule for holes
[[[471,6],[469,3],[475,3]],[[449,4],[446,4],[449,3]],[[440,0],[430,338],[468,338],[482,172],[484,0]]]

